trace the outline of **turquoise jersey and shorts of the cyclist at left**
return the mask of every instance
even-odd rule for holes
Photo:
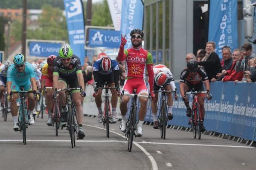
[[[19,91],[20,86],[24,86],[25,91],[30,90],[32,88],[31,78],[35,78],[35,70],[29,62],[25,62],[25,69],[21,73],[17,71],[14,64],[8,68],[7,82],[12,82],[12,90]]]

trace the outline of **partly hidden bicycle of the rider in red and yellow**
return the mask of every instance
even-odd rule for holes
[[[52,89],[52,87],[45,87],[44,86],[44,94],[47,94],[47,90],[46,89]],[[58,136],[58,129],[60,128],[60,109],[59,109],[59,102],[58,99],[54,99],[54,103],[53,103],[53,107],[52,107],[52,115],[50,115],[52,117],[52,126],[55,126],[55,136]],[[48,112],[49,114],[49,112]]]

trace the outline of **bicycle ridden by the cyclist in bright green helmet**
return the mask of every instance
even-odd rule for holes
[[[61,88],[58,89],[55,88],[55,98],[57,96],[57,93],[59,91],[66,91],[67,92],[67,129],[69,130],[70,133],[70,140],[71,140],[71,146],[74,148],[76,146],[76,139],[78,140],[78,124],[76,123],[77,121],[76,118],[76,111],[75,111],[75,105],[73,104],[73,97],[71,92],[73,90],[80,90],[82,91],[82,88]],[[75,138],[76,135],[76,138]]]

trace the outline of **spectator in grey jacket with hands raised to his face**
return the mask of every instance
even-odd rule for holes
[[[249,43],[244,44],[241,48],[241,55],[244,58],[241,57],[238,62],[236,62],[236,71],[249,71],[248,59],[256,57],[255,54],[252,53],[252,45]]]

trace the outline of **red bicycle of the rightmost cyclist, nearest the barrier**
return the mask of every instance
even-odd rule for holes
[[[186,92],[185,96],[188,94],[193,95],[193,102],[192,102],[192,113],[191,118],[189,119],[189,123],[191,124],[191,128],[193,131],[194,139],[198,136],[198,139],[201,139],[201,124],[203,123],[200,105],[198,102],[198,94],[207,94],[207,91],[195,91],[195,88],[192,88],[191,92]],[[209,99],[212,99],[212,96],[209,94]]]

